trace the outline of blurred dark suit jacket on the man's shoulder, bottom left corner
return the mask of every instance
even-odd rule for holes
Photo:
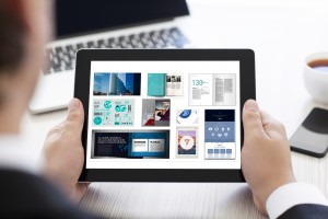
[[[0,170],[0,218],[93,218],[70,203],[45,178]]]

